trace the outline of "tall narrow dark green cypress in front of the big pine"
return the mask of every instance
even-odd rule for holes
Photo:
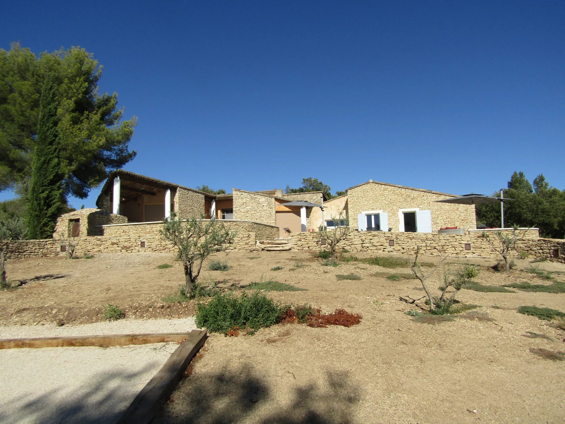
[[[63,175],[57,131],[57,87],[47,74],[41,90],[40,115],[32,178],[28,192],[28,239],[49,239],[53,235],[63,194]]]

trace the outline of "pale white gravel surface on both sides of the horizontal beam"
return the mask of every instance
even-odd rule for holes
[[[2,338],[194,329],[193,319],[121,320],[80,326],[0,327]],[[176,343],[0,350],[0,422],[114,423]]]

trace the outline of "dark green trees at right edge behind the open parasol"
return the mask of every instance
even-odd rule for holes
[[[542,237],[565,237],[565,192],[551,187],[543,174],[538,175],[532,185],[521,171],[512,174],[507,187],[504,197],[514,201],[504,204],[506,227],[538,227]],[[477,205],[477,222],[499,227],[500,205]]]

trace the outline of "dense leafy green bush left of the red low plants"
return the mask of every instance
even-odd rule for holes
[[[198,304],[196,325],[224,335],[233,327],[259,330],[275,324],[285,308],[259,292],[240,297],[218,293],[208,304]]]

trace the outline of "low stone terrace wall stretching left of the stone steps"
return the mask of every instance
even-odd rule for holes
[[[224,220],[222,223],[236,232],[234,242],[228,250],[247,250],[255,247],[257,240],[270,240],[279,236],[279,227],[251,221]],[[159,235],[162,222],[113,224],[103,226],[101,236],[75,237],[75,254],[86,253],[135,253],[176,251],[172,243]],[[2,242],[2,246],[6,242]],[[66,254],[60,252],[60,243],[55,239],[12,241],[8,246],[8,259],[19,259]]]

